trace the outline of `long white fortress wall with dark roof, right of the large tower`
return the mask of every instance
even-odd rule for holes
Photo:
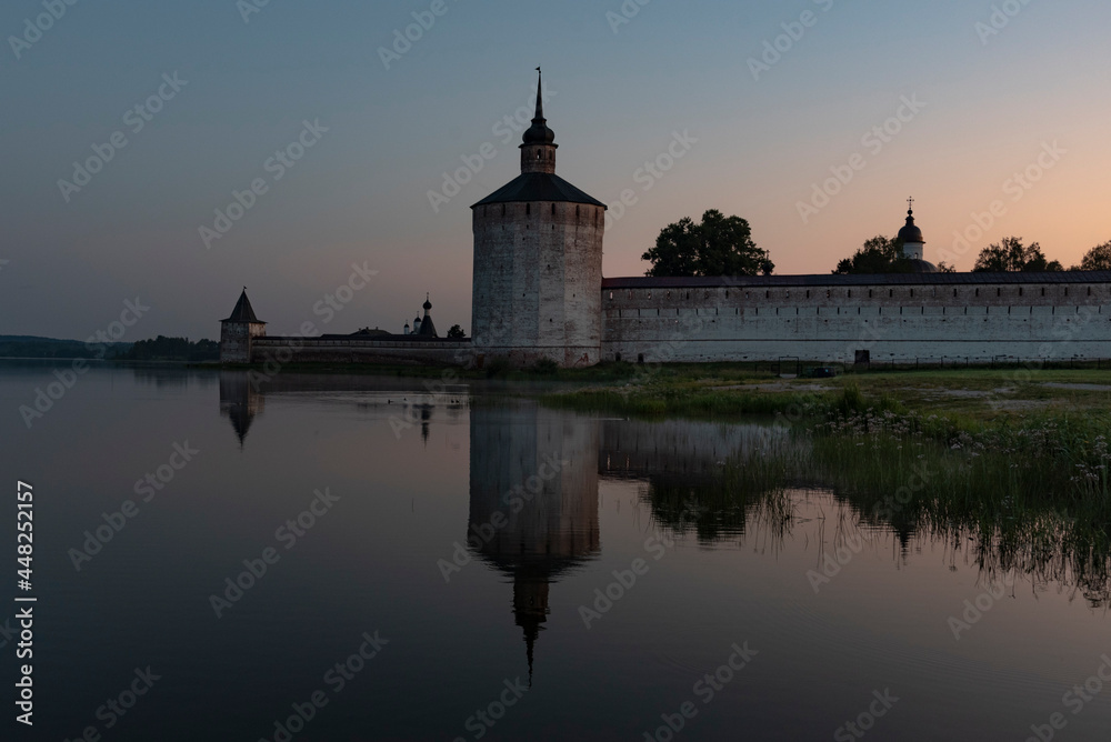
[[[1111,275],[1102,272],[1000,282],[958,273],[942,274],[942,283],[927,277],[910,277],[911,283],[773,278],[730,285],[721,279],[717,285],[608,280],[602,359],[851,363],[858,351],[880,362],[1111,358]],[[797,283],[788,285],[792,279]]]

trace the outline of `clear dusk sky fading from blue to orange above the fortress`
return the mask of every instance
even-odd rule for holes
[[[538,64],[557,172],[611,204],[607,277],[708,209],[828,273],[911,195],[928,260],[1018,235],[1070,265],[1111,240],[1109,27],[1100,0],[7,0],[0,334],[138,301],[121,340],[216,339],[244,285],[271,334],[398,332],[426,292],[469,330],[469,207],[520,171]]]

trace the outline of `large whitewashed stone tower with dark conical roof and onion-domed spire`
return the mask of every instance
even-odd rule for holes
[[[605,205],[556,174],[557,147],[538,81],[521,174],[471,207],[479,362],[550,359],[571,368],[600,360]]]

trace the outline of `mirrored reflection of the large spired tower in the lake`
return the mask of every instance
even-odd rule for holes
[[[549,585],[599,552],[598,434],[536,405],[471,409],[468,544],[513,581],[530,683]]]

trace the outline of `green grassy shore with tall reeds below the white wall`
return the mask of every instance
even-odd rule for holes
[[[789,528],[792,488],[830,490],[863,522],[965,544],[993,571],[1111,603],[1111,372],[931,370],[781,380],[670,369],[548,394],[546,404],[722,422],[775,415],[790,444],[731,460],[698,491],[661,488],[668,522],[704,507],[701,538],[755,513]]]

